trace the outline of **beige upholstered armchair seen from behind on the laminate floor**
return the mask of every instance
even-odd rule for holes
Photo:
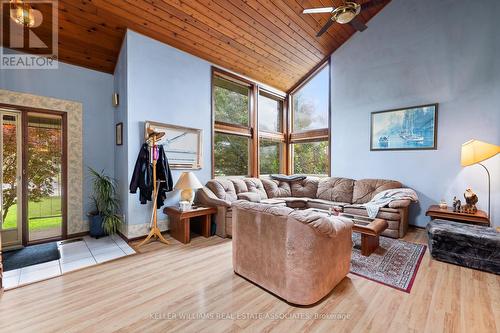
[[[234,272],[287,302],[314,304],[349,272],[351,220],[248,201],[232,209]]]

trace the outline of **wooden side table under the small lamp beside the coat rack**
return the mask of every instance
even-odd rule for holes
[[[170,218],[170,235],[179,242],[187,244],[191,241],[191,218],[199,217],[201,220],[201,234],[210,237],[210,224],[212,214],[217,213],[215,207],[197,207],[181,211],[178,207],[166,207],[163,212]],[[194,221],[193,221],[194,222]]]

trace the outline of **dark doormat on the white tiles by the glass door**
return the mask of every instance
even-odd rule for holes
[[[20,250],[2,253],[3,270],[11,271],[61,258],[57,242],[30,245]]]

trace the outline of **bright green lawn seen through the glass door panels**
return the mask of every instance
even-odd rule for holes
[[[50,197],[40,202],[29,202],[28,207],[30,230],[51,229],[61,225],[61,197]],[[13,205],[9,208],[3,228],[14,228],[16,221],[17,205]]]

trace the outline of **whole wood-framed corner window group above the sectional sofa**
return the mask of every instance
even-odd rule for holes
[[[214,177],[330,173],[328,64],[289,97],[214,69]]]

